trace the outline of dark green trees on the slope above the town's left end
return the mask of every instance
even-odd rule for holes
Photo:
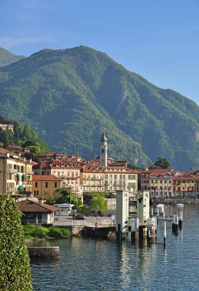
[[[3,117],[0,116],[0,118]],[[29,124],[23,126],[12,119],[4,120],[3,123],[14,124],[14,133],[11,129],[3,130],[0,128],[0,143],[3,143],[4,148],[10,149],[9,145],[13,144],[22,147],[28,146],[32,155],[38,155],[49,150],[46,142],[38,138],[37,133],[31,129]]]

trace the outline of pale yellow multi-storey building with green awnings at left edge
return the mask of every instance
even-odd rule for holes
[[[31,160],[0,148],[0,193],[31,195],[32,173]]]

